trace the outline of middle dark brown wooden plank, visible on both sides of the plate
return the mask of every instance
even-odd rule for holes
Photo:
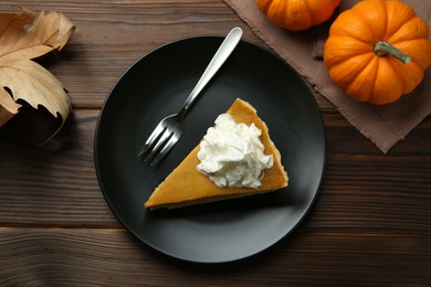
[[[95,174],[97,116],[98,110],[74,110],[62,131],[39,148],[10,139],[8,128],[0,130],[0,224],[118,226]],[[313,228],[370,232],[385,226],[389,232],[431,233],[431,118],[387,156],[340,115],[324,114],[324,120],[327,168],[304,224]],[[23,126],[20,123],[9,129]],[[423,149],[411,151],[419,139]]]

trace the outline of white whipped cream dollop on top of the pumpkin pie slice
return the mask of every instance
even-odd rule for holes
[[[259,188],[264,169],[274,162],[263,153],[261,134],[254,124],[236,124],[232,116],[220,115],[200,144],[199,172],[220,188]]]

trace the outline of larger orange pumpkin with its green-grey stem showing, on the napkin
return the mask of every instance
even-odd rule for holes
[[[389,104],[411,93],[431,64],[429,28],[398,0],[365,0],[334,21],[324,61],[358,102]]]

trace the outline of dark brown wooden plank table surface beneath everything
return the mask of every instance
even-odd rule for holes
[[[93,161],[101,107],[130,64],[169,41],[234,25],[261,41],[221,0],[3,0],[0,11],[21,7],[62,11],[77,26],[64,51],[40,60],[73,114],[42,147],[45,116],[29,111],[0,130],[1,286],[431,285],[430,117],[383,156],[317,97],[327,163],[302,224],[245,261],[178,262],[136,240],[106,204]]]

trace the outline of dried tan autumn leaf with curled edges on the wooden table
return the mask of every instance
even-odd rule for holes
[[[60,12],[34,14],[0,13],[0,127],[21,107],[18,99],[33,108],[44,106],[63,123],[71,111],[71,100],[62,83],[44,67],[31,61],[53,50],[61,50],[75,30]]]

